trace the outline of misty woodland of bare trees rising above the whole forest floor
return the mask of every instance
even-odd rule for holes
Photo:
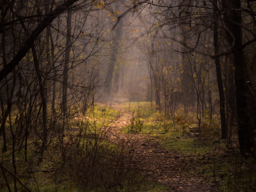
[[[150,101],[255,156],[255,2],[11,0],[1,5],[2,154],[65,149],[97,102]],[[62,154],[64,156],[64,154]],[[63,157],[64,158],[64,157]],[[4,170],[4,166],[2,170]],[[18,181],[17,181],[18,182]]]

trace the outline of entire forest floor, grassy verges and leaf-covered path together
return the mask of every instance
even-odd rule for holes
[[[255,159],[219,131],[218,120],[202,119],[199,134],[196,114],[164,117],[149,102],[99,103],[70,119],[63,143],[55,136],[42,161],[34,135],[27,162],[9,145],[0,191],[256,191]]]

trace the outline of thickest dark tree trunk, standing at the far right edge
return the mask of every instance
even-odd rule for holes
[[[248,71],[242,50],[242,15],[240,0],[222,0],[223,18],[226,25],[226,36],[233,50],[233,65],[235,68],[236,106],[238,120],[238,137],[241,153],[255,156],[254,129],[250,119]]]

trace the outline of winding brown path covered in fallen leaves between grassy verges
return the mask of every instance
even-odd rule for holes
[[[189,166],[192,161],[197,163],[195,161],[199,158],[184,156],[176,150],[164,149],[160,145],[160,139],[147,134],[120,133],[130,122],[132,111],[127,108],[120,109],[118,104],[113,104],[112,107],[121,110],[122,114],[109,128],[108,140],[129,147],[128,149],[133,152],[132,164],[136,164],[143,175],[169,186],[171,191],[217,191],[212,178],[186,173],[186,170],[196,169]]]

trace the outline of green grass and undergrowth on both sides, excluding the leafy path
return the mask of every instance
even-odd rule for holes
[[[169,191],[169,187],[145,178],[136,170],[131,169],[127,172],[125,162],[129,159],[126,153],[128,149],[111,144],[100,136],[103,127],[110,126],[121,114],[121,109],[125,109],[130,111],[130,114],[133,113],[133,116],[129,125],[121,132],[148,134],[154,137],[161,148],[173,151],[181,166],[185,165],[182,170],[184,175],[200,175],[201,178],[215,183],[219,191],[224,192],[255,189],[255,160],[244,159],[237,151],[229,150],[227,147],[232,145],[226,147],[225,141],[219,140],[218,135],[215,135],[218,131],[216,127],[202,123],[203,131],[200,137],[193,137],[189,134],[189,127],[196,127],[196,118],[192,114],[176,115],[181,120],[174,125],[170,117],[159,115],[158,110],[150,102],[127,102],[119,107],[120,110],[115,110],[111,105],[109,107],[98,104],[89,109],[85,117],[71,119],[69,129],[65,132],[64,142],[69,142],[65,154],[62,153],[59,141],[55,138],[45,151],[42,163],[38,164],[40,154],[36,152],[36,146],[30,140],[28,162],[24,161],[24,148],[14,153],[17,177],[32,191],[40,192]],[[80,131],[81,141],[78,142],[76,139]],[[14,172],[11,163],[11,136],[8,135],[7,138],[8,151],[2,154],[2,162],[6,169]],[[0,172],[2,176],[1,169]],[[83,174],[77,174],[79,172]],[[89,175],[86,175],[87,173]],[[7,174],[7,178],[13,191],[13,177]],[[88,181],[90,178],[94,180]],[[17,188],[23,190],[18,182]],[[3,177],[0,177],[0,191],[8,191]]]

